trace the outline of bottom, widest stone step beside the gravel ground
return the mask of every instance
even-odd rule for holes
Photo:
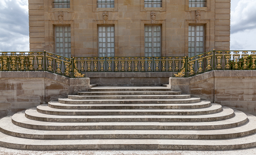
[[[26,139],[0,132],[0,145],[24,150],[234,150],[256,146],[256,134],[221,140],[195,139]]]

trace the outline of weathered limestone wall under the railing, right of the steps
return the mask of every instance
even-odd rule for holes
[[[170,78],[169,87],[256,115],[255,70],[214,70],[189,78]]]

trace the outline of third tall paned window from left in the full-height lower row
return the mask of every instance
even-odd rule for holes
[[[145,57],[161,56],[161,26],[145,26]]]

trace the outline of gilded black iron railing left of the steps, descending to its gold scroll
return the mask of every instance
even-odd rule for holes
[[[66,77],[84,77],[74,58],[49,52],[1,52],[0,71],[49,71]]]

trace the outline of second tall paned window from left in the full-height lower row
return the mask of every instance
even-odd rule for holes
[[[114,57],[114,26],[98,27],[98,50],[99,57]]]

